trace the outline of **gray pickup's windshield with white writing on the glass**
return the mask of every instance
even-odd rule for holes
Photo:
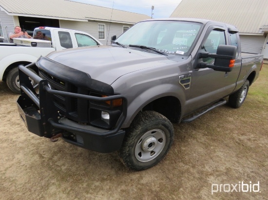
[[[144,21],[135,24],[115,42],[151,47],[168,54],[186,55],[201,25],[186,21]]]

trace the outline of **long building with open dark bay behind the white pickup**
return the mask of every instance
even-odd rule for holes
[[[90,33],[102,44],[121,35],[135,23],[151,17],[70,0],[0,0],[0,40],[20,26],[32,33],[40,26]]]

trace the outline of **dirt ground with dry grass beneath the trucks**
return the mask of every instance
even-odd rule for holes
[[[0,82],[0,200],[267,200],[267,85],[264,65],[241,108],[224,105],[189,124],[175,124],[168,155],[155,167],[132,171],[116,152],[29,133],[17,111],[19,95]],[[259,192],[224,192],[233,189],[230,184],[238,190],[242,181],[259,182]],[[212,184],[221,192],[211,194]]]

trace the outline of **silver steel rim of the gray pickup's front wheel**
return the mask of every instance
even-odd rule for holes
[[[166,145],[166,134],[160,129],[153,129],[143,134],[136,146],[135,157],[140,162],[156,158]]]

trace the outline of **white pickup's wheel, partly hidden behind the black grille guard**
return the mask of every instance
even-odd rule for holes
[[[32,72],[34,72],[35,74],[37,74],[35,72],[35,70],[30,69]],[[34,80],[31,80],[32,85],[36,85],[37,83],[34,82]],[[15,93],[20,94],[20,87],[19,87],[19,68],[15,67],[13,69],[11,69],[6,77],[6,84],[7,86]]]

